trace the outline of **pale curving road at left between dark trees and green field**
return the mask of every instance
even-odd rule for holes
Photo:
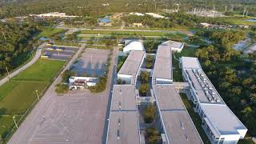
[[[20,72],[22,72],[23,70],[25,70],[26,68],[28,68],[29,66],[33,65],[34,62],[38,61],[38,58],[40,58],[41,53],[42,53],[42,47],[45,46],[45,43],[42,44],[41,46],[39,46],[39,49],[36,51],[34,58],[32,60],[30,60],[30,62],[27,62],[24,66],[18,68],[18,70],[15,70],[14,72],[12,72],[9,76],[6,76],[6,78],[2,78],[0,80],[0,86],[2,86],[4,83],[8,82],[8,80],[10,78],[13,78],[15,75],[19,74]]]

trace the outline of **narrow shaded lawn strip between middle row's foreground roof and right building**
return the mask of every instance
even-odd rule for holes
[[[198,133],[200,134],[200,137],[202,138],[202,142],[204,142],[204,144],[210,144],[210,141],[209,141],[205,131],[202,129],[202,126],[201,126],[202,125],[202,120],[199,117],[199,115],[197,113],[195,113],[194,110],[193,110],[192,102],[190,102],[186,98],[186,94],[180,94],[180,95],[181,95],[181,98],[182,98],[182,102],[186,106],[186,110],[190,114],[190,118],[194,122],[194,126],[197,128]]]

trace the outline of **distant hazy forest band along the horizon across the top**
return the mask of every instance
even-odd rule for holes
[[[1,3],[2,2],[2,3]],[[159,12],[159,10],[178,9],[193,10],[199,9],[230,11],[235,14],[242,14],[244,9],[248,10],[250,16],[256,16],[256,1],[254,0],[161,0],[156,4],[153,0],[5,0],[0,2],[0,18],[24,16],[27,14],[41,14],[58,11],[66,14],[80,16],[98,16],[117,12]],[[102,4],[109,4],[103,6]]]

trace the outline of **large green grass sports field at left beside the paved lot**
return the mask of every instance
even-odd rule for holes
[[[46,87],[64,65],[64,61],[39,59],[34,65],[22,71],[0,86],[0,135],[6,135],[14,126],[12,119],[18,122],[22,115],[37,101],[36,90],[42,96]]]

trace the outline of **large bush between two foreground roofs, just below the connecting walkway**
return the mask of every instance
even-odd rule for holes
[[[143,112],[143,118],[146,123],[152,123],[155,118],[157,118],[157,110],[153,104],[146,106],[146,109]]]

